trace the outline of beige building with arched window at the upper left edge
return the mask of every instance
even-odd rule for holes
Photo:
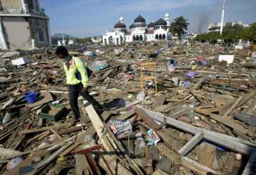
[[[0,49],[51,46],[49,17],[39,0],[0,0]]]

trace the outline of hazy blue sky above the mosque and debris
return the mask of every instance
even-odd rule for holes
[[[223,0],[41,0],[50,18],[51,34],[74,37],[100,36],[113,29],[119,17],[129,29],[141,15],[149,24],[170,14],[188,19],[189,33],[204,32],[209,23],[220,22]],[[226,0],[225,22],[256,22],[256,0]]]

